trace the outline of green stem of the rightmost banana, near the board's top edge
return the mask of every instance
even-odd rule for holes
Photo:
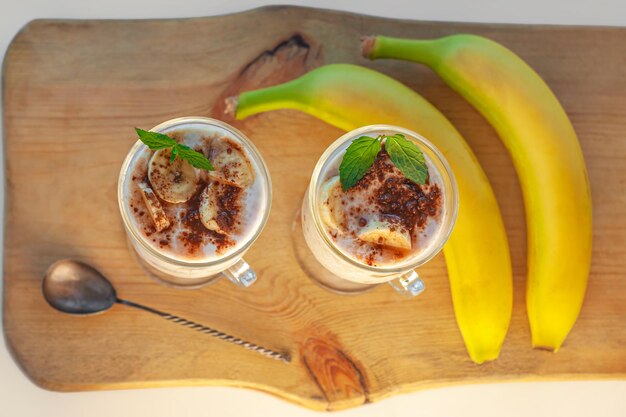
[[[388,36],[369,36],[361,42],[361,52],[369,59],[392,58],[419,62],[430,67],[436,66],[441,59],[441,43],[439,39],[401,39]]]

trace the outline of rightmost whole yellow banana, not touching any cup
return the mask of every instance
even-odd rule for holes
[[[591,193],[576,132],[541,77],[473,35],[365,39],[364,55],[431,67],[493,125],[509,150],[528,227],[526,307],[534,347],[559,349],[580,312],[591,264]]]

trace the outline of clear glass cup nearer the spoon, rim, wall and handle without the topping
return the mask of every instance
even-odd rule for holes
[[[214,259],[179,259],[166,251],[158,250],[137,230],[131,221],[130,208],[124,200],[126,198],[125,184],[127,177],[131,175],[132,167],[134,166],[133,162],[146,149],[146,145],[138,140],[128,152],[118,179],[118,203],[129,245],[136,255],[136,259],[149,276],[168,286],[199,288],[212,284],[222,276],[226,276],[235,285],[248,287],[256,281],[256,273],[243,260],[243,255],[256,241],[265,227],[272,201],[272,186],[267,165],[250,139],[239,130],[219,120],[207,117],[181,117],[163,122],[151,130],[159,133],[168,133],[186,128],[206,129],[207,132],[227,135],[234,138],[245,148],[252,165],[256,167],[255,174],[258,179],[255,181],[261,181],[261,189],[263,190],[263,201],[260,204],[260,207],[262,207],[261,220],[257,223],[256,230],[250,231],[244,241],[237,242],[233,251],[224,254],[224,256],[216,256]]]

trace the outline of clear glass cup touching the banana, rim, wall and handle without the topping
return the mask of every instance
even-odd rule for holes
[[[360,136],[403,134],[415,143],[437,169],[442,181],[443,204],[440,231],[436,240],[424,251],[402,259],[393,265],[370,266],[359,262],[340,250],[328,236],[318,210],[320,186],[327,178],[327,170],[336,166],[350,143]],[[423,136],[398,126],[372,125],[346,133],[320,157],[311,182],[304,196],[301,210],[302,234],[306,246],[315,258],[313,266],[306,256],[300,255],[301,264],[307,273],[321,286],[341,294],[359,293],[381,283],[389,283],[394,289],[407,296],[416,296],[424,290],[424,283],[415,268],[432,259],[443,248],[450,237],[458,212],[458,190],[454,175],[441,152]]]

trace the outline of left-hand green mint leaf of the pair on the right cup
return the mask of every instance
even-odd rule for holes
[[[339,180],[344,191],[353,187],[370,169],[381,144],[378,138],[361,136],[352,141],[339,165]]]

